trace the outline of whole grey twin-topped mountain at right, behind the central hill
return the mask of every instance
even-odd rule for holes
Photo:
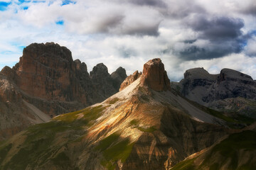
[[[222,69],[220,74],[209,74],[203,68],[188,69],[178,89],[203,106],[256,118],[256,81],[233,69]]]

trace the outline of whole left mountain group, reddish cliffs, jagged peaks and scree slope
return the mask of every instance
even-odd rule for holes
[[[127,77],[119,67],[111,75],[104,64],[90,74],[70,50],[53,42],[25,47],[20,61],[0,73],[0,139],[31,124],[101,102],[119,91]]]

